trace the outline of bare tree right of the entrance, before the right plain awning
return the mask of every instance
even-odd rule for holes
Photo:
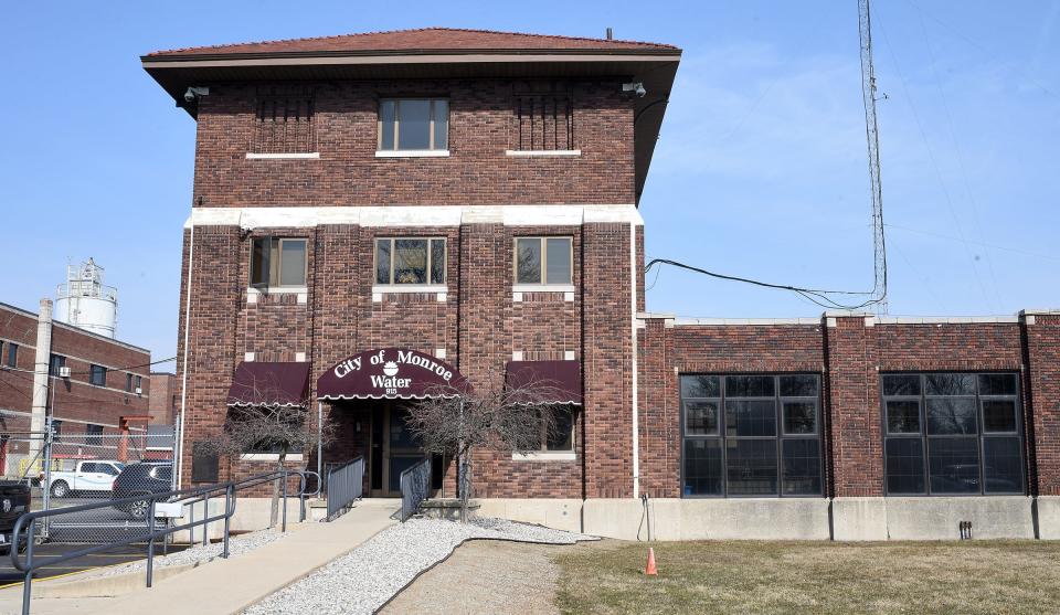
[[[556,435],[556,400],[563,392],[547,380],[510,382],[490,372],[479,386],[435,386],[409,409],[410,433],[426,454],[457,460],[460,519],[467,520],[471,492],[471,456],[476,449],[539,449]]]

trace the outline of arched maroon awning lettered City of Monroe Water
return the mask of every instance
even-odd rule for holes
[[[422,400],[456,395],[467,381],[456,368],[407,348],[377,348],[339,361],[317,380],[320,400]]]

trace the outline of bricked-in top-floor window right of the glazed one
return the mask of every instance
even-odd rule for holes
[[[573,150],[574,107],[571,92],[545,84],[516,89],[512,146],[522,151]]]

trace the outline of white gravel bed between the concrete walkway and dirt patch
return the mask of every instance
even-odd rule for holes
[[[596,537],[478,518],[468,523],[412,519],[246,609],[246,615],[374,613],[417,574],[470,539],[573,544]]]

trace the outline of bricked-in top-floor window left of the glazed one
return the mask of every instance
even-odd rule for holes
[[[254,153],[311,153],[317,151],[312,121],[312,92],[307,87],[268,87],[258,92]]]

